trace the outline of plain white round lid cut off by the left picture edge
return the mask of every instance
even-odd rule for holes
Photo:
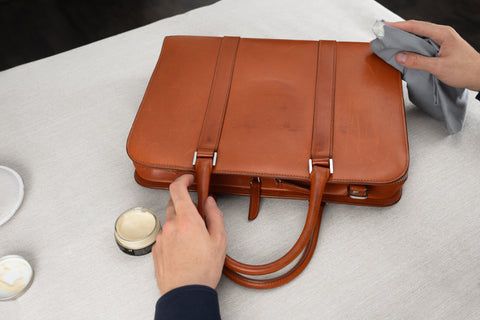
[[[0,226],[10,219],[23,201],[23,180],[13,169],[0,166]]]

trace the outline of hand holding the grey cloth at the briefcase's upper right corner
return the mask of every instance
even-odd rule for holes
[[[480,54],[452,27],[415,20],[385,23],[429,37],[440,45],[438,57],[400,52],[395,57],[399,64],[407,68],[426,70],[452,87],[480,90]]]

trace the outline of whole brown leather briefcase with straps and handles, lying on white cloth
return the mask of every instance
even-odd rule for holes
[[[409,164],[400,73],[368,43],[167,37],[127,151],[145,187],[195,174],[200,212],[209,192],[250,196],[249,219],[261,197],[309,199],[285,256],[258,266],[226,258],[230,279],[276,287],[309,262],[326,202],[400,199]],[[299,256],[281,276],[251,277]]]

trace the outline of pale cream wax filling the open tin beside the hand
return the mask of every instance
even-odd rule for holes
[[[117,222],[118,234],[126,240],[142,240],[155,229],[155,218],[149,212],[132,209]]]

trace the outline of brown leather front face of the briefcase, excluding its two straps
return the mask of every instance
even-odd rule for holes
[[[216,37],[165,38],[127,142],[136,165],[195,171],[205,114],[218,95],[212,84],[221,46]],[[385,184],[405,176],[399,72],[368,43],[337,42],[325,95],[319,55],[318,41],[239,39],[212,174],[309,181],[315,104],[325,96],[333,132],[329,183]]]

